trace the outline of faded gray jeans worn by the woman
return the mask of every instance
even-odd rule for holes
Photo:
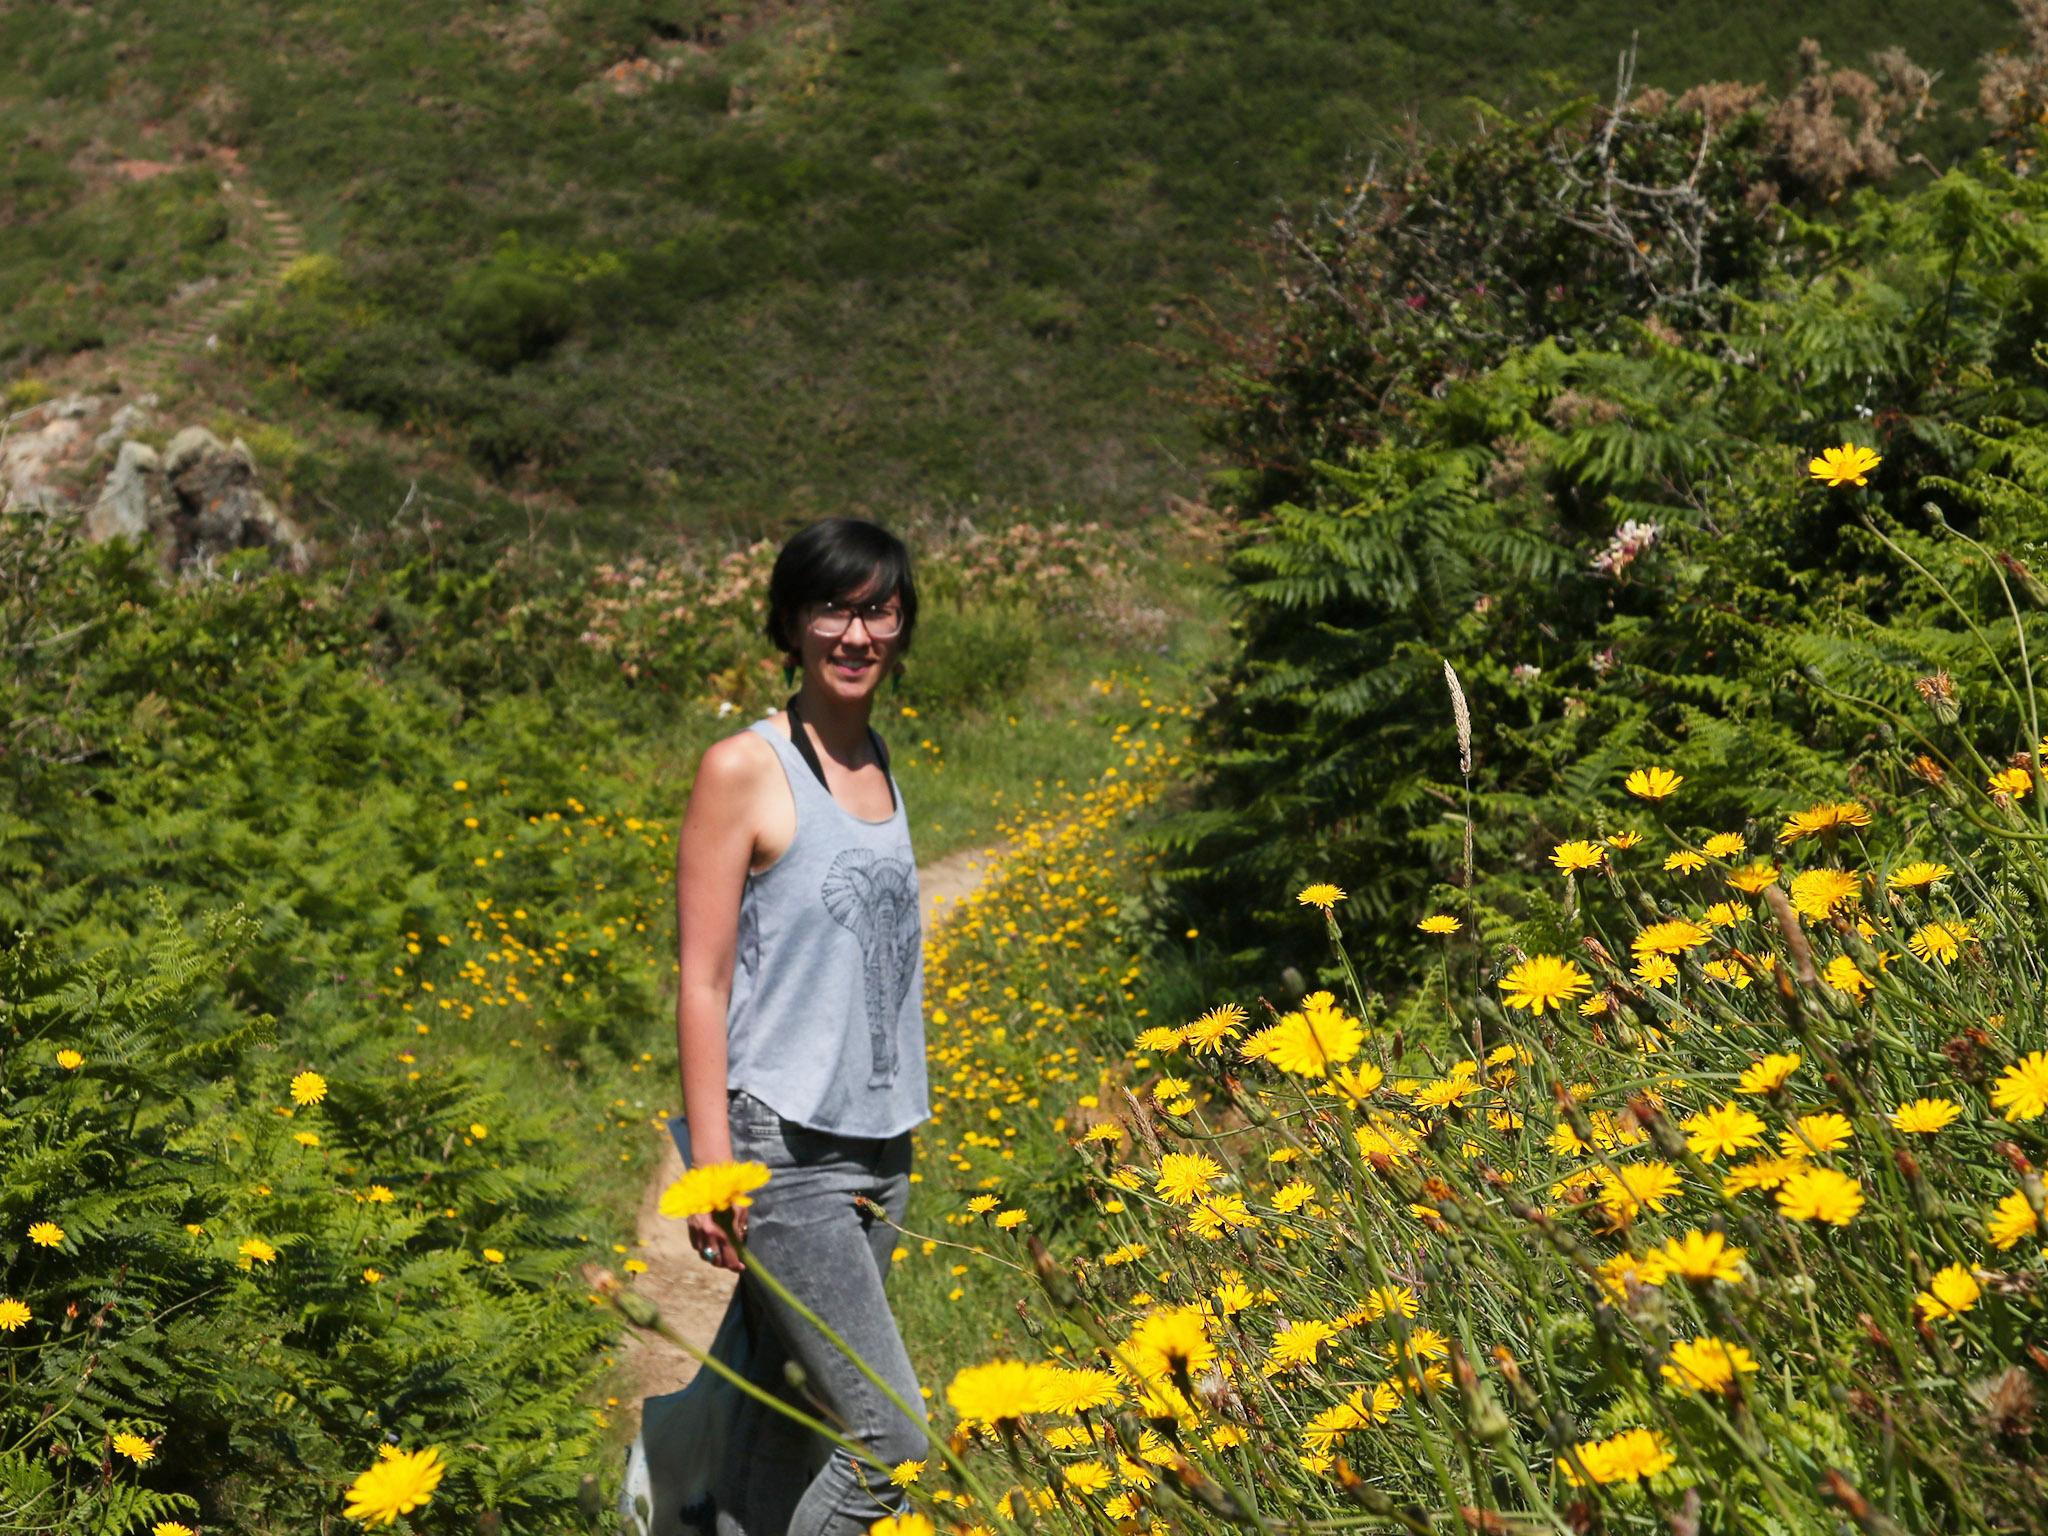
[[[895,1231],[854,1208],[864,1194],[901,1223],[909,1204],[909,1133],[887,1141],[836,1137],[780,1118],[752,1094],[727,1096],[733,1159],[768,1167],[748,1208],[748,1255],[823,1319],[911,1407],[918,1374],[897,1333],[883,1280]],[[748,1311],[748,1376],[866,1448],[883,1468],[922,1460],[924,1425],[905,1417],[860,1368],[752,1276],[733,1307]],[[803,1370],[793,1389],[784,1362]],[[748,1399],[719,1481],[719,1536],[864,1536],[901,1513],[903,1491],[774,1409]]]

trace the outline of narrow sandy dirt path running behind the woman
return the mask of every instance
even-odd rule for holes
[[[956,854],[932,860],[918,870],[918,899],[924,915],[924,932],[930,934],[944,915],[975,887],[981,885],[999,848],[963,848]],[[727,1270],[713,1270],[690,1251],[690,1231],[686,1223],[668,1221],[662,1214],[662,1190],[682,1174],[682,1157],[666,1130],[662,1137],[662,1161],[641,1192],[637,1257],[647,1262],[647,1274],[635,1282],[637,1290],[662,1309],[662,1317],[690,1343],[700,1348],[711,1343],[725,1317],[725,1303],[733,1292],[735,1276]],[[629,1329],[621,1339],[618,1368],[610,1395],[618,1399],[618,1419],[627,1440],[639,1427],[641,1399],[655,1393],[674,1393],[696,1374],[696,1360],[653,1333]]]

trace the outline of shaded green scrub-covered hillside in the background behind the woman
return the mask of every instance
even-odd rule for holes
[[[375,426],[573,494],[588,537],[971,498],[1135,516],[1202,453],[1171,309],[1229,309],[1247,231],[1409,113],[1606,90],[1632,29],[1645,84],[1782,86],[1810,33],[1847,63],[1901,43],[1954,102],[2013,31],[1993,0],[6,4],[0,360],[119,342],[233,268],[211,172],[96,170],[231,143],[340,281],[188,387],[342,463]],[[674,78],[612,94],[631,57]]]

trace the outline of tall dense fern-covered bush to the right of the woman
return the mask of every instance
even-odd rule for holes
[[[1862,193],[1825,225],[1786,207],[1765,223],[1745,176],[1718,170],[1753,131],[1737,117],[1700,182],[1733,203],[1716,227],[1737,244],[1696,301],[1616,283],[1561,330],[1489,297],[1432,332],[1434,289],[1411,289],[1430,293],[1411,309],[1376,287],[1409,209],[1540,193],[1597,127],[1495,125],[1421,162],[1421,190],[1364,231],[1319,225],[1311,250],[1341,287],[1292,285],[1276,330],[1343,334],[1380,373],[1284,346],[1245,387],[1241,418],[1296,412],[1303,469],[1262,455],[1245,481],[1298,494],[1249,518],[1231,557],[1243,653],[1206,721],[1206,803],[1171,838],[1196,918],[1247,954],[1286,891],[1333,879],[1356,885],[1376,965],[1413,965],[1415,920],[1462,879],[1473,809],[1481,903],[1536,920],[1550,846],[1589,834],[1595,793],[1632,766],[1683,772],[1690,805],[1731,827],[1851,786],[1901,793],[1864,776],[1901,729],[1878,707],[1925,713],[1913,676],[1958,643],[1950,594],[2003,612],[2001,567],[1933,508],[2040,563],[2025,444],[2048,420],[2030,350],[2048,199],[1997,160],[1909,197]],[[1636,129],[1698,141],[1675,111]],[[1571,223],[1526,233],[1491,258],[1495,293],[1595,260]],[[1430,229],[1415,244],[1436,254],[1411,266],[1466,260]],[[1436,367],[1417,367],[1432,346]],[[1843,440],[1884,455],[1868,489],[1804,473]],[[1470,803],[1442,733],[1446,662],[1473,711]],[[2009,711],[1966,709],[1987,758],[2025,745]]]

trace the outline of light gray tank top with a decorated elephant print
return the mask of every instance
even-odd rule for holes
[[[739,895],[725,1081],[811,1130],[909,1130],[932,1104],[903,793],[891,774],[895,811],[866,821],[831,799],[770,721],[748,729],[782,760],[797,836]]]

